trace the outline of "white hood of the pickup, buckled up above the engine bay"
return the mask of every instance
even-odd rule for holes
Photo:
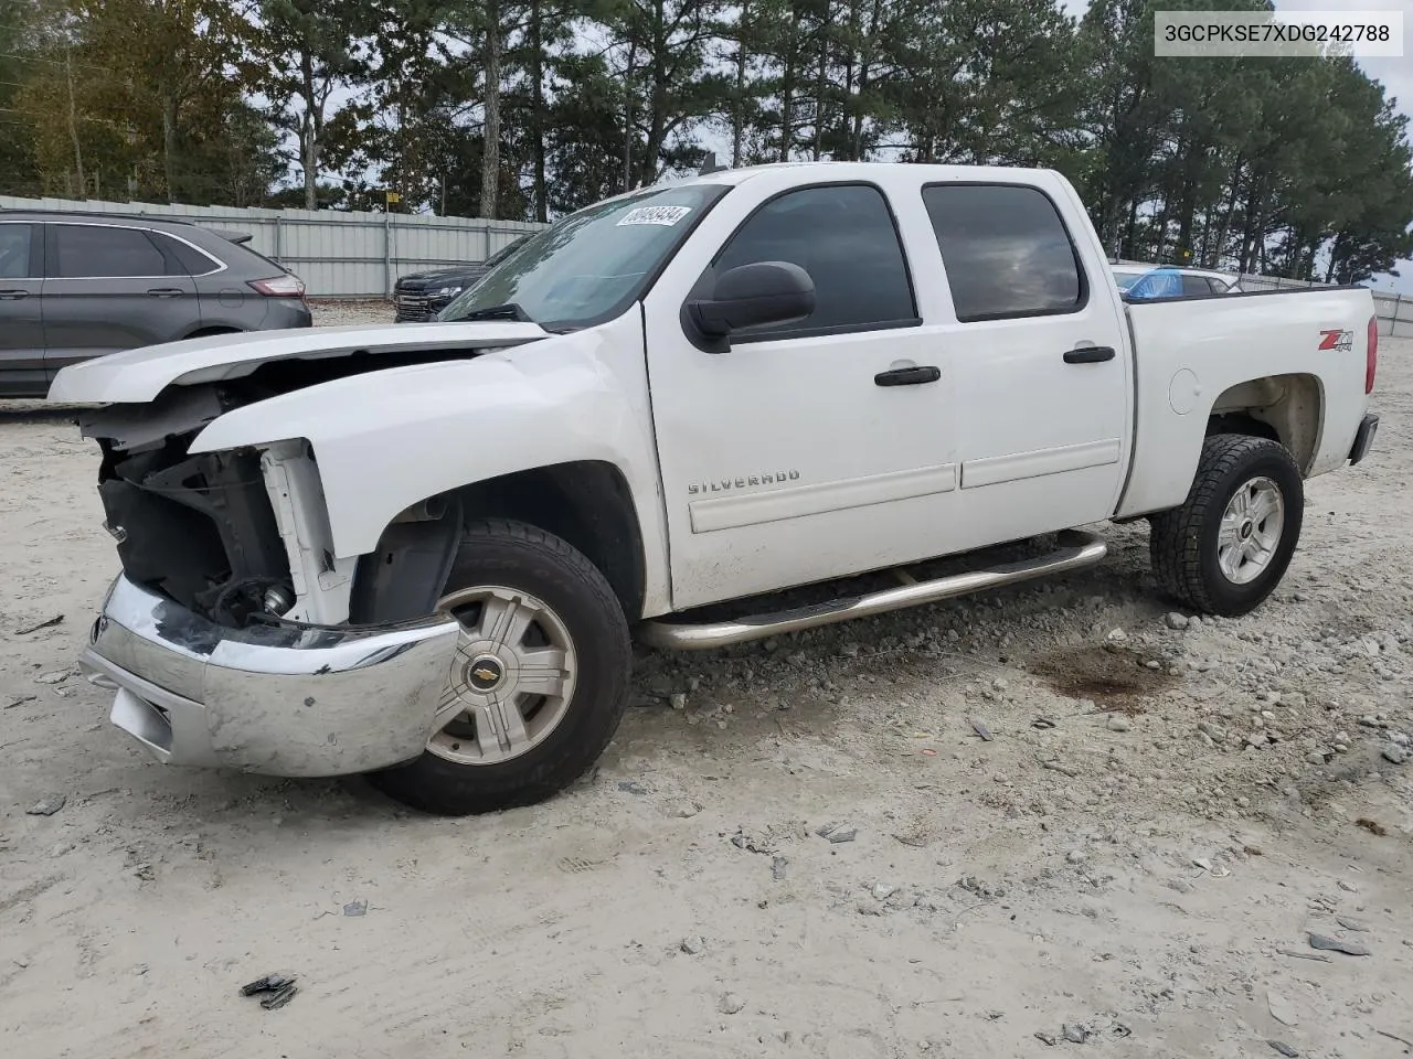
[[[249,376],[276,360],[325,360],[355,354],[445,352],[456,359],[476,350],[538,342],[550,333],[534,323],[380,323],[353,328],[298,328],[209,335],[95,357],[61,370],[48,400],[76,404],[141,404],[168,385],[220,383]]]

